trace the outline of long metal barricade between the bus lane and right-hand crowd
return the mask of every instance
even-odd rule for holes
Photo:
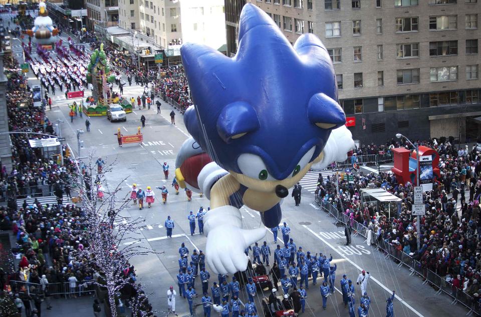
[[[340,212],[337,207],[329,203],[325,199],[321,199],[318,195],[315,196],[314,202],[319,206],[318,210],[324,210],[328,212],[328,215],[335,218],[335,222],[340,222],[344,225],[351,219],[349,217]],[[398,263],[398,266],[405,265],[411,270],[411,276],[419,275],[423,278],[423,284],[429,283],[432,286],[438,288],[436,294],[445,293],[446,295],[450,296],[453,301],[452,304],[460,303],[464,305],[469,312],[466,315],[471,315],[473,313],[481,316],[481,304],[475,300],[472,296],[464,292],[462,289],[455,288],[451,282],[446,281],[446,279],[442,278],[434,271],[423,267],[422,263],[406,254],[402,250],[398,250],[393,247],[388,241],[383,240],[381,237],[377,238],[376,234],[373,231],[370,231],[366,226],[362,225],[357,221],[353,221],[351,223],[351,227],[353,229],[354,235],[360,234],[364,238],[368,237],[368,234],[372,234],[371,236],[371,244],[377,245],[385,254],[386,258],[390,257],[395,259]]]

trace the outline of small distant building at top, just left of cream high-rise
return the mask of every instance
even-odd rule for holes
[[[118,1],[119,0],[85,0],[87,5],[87,28],[93,31],[96,24],[99,24],[104,28],[118,26]]]

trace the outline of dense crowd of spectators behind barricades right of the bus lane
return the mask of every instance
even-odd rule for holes
[[[391,172],[365,175],[359,171],[354,175],[354,184],[349,184],[347,178],[340,179],[339,195],[335,180],[320,175],[316,194],[342,210],[351,225],[357,221],[368,227],[378,242],[391,244],[451,281],[453,287],[479,298],[481,153],[476,146],[456,147],[444,138],[417,142],[435,149],[440,158],[440,179],[433,183],[431,191],[423,193],[426,215],[421,217],[419,237],[416,217],[411,215],[413,185],[399,183]],[[394,140],[386,142],[384,148],[400,146],[409,149],[407,143]],[[373,146],[370,148],[372,151]],[[401,199],[400,208],[363,201],[363,188],[385,189]]]

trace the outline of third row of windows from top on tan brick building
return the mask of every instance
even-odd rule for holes
[[[466,55],[478,54],[477,39],[465,40],[465,43]],[[381,61],[384,58],[383,45],[377,45],[376,50],[377,60]],[[342,48],[333,48],[327,51],[334,64],[342,63]],[[429,42],[429,56],[431,57],[457,55],[457,52],[457,41]],[[419,55],[419,43],[396,44],[396,58],[398,59],[418,58]],[[362,46],[353,47],[353,60],[362,62]]]

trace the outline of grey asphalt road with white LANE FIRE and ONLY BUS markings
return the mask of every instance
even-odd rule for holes
[[[4,18],[5,20],[5,18]],[[20,45],[20,41],[15,41],[14,45]],[[17,44],[16,44],[17,43]],[[14,49],[14,48],[13,48]],[[14,49],[18,51],[17,49]],[[32,73],[29,73],[29,83],[38,84]],[[129,99],[131,96],[137,97],[143,91],[142,87],[128,85],[124,87],[124,95]],[[77,101],[80,101],[78,99]],[[64,94],[58,93],[54,98],[52,110],[47,110],[50,120],[60,119],[62,136],[71,147],[77,149],[76,130],[85,129],[85,119],[77,117],[71,123],[68,117],[68,104],[72,100],[66,101]],[[137,206],[131,205],[123,211],[125,215],[133,218],[141,216],[145,218],[145,227],[140,234],[143,239],[139,245],[149,246],[157,252],[163,254],[151,254],[139,256],[133,259],[133,264],[137,270],[140,281],[147,287],[152,294],[149,296],[154,309],[158,310],[156,315],[164,315],[166,310],[166,296],[169,285],[176,285],[176,274],[178,272],[178,248],[185,242],[190,251],[193,249],[204,249],[206,238],[203,235],[188,233],[189,224],[187,215],[189,210],[196,212],[200,206],[206,208],[209,205],[205,197],[194,195],[192,201],[188,202],[185,194],[180,192],[175,195],[173,187],[170,186],[175,167],[175,156],[182,142],[188,137],[188,133],[183,125],[181,114],[176,115],[176,125],[170,124],[169,113],[172,108],[162,102],[161,114],[157,114],[156,108],[150,110],[135,109],[133,113],[127,114],[127,121],[111,123],[106,117],[91,117],[91,131],[81,135],[84,147],[81,149],[80,156],[87,156],[92,153],[94,160],[101,156],[107,163],[116,162],[114,171],[107,175],[106,186],[113,188],[116,185],[122,187],[121,194],[126,195],[132,183],[145,189],[166,185],[170,195],[166,204],[160,204],[157,200],[152,208],[139,210]],[[137,127],[141,126],[140,116],[146,117],[146,127],[142,128],[144,143],[124,145],[118,147],[114,133],[120,128],[124,135],[135,134]],[[78,153],[76,153],[78,155]],[[161,164],[167,162],[170,166],[170,177],[164,179]],[[383,166],[384,170],[389,169],[388,164]],[[377,168],[375,168],[377,170]],[[371,172],[365,169],[366,172]],[[309,176],[309,175],[308,175]],[[292,230],[291,237],[294,238],[297,246],[302,246],[305,251],[313,253],[332,254],[332,263],[337,263],[336,287],[340,289],[339,280],[343,274],[347,274],[354,284],[361,269],[369,271],[372,275],[368,284],[368,293],[371,296],[371,307],[369,316],[385,316],[386,298],[391,290],[396,290],[398,295],[394,301],[396,316],[460,316],[467,313],[467,310],[460,305],[449,305],[451,299],[443,294],[438,295],[436,291],[428,285],[423,285],[421,278],[410,276],[410,271],[404,267],[398,267],[396,263],[385,259],[384,255],[375,248],[367,246],[361,237],[353,237],[353,245],[344,245],[344,229],[332,223],[332,218],[325,212],[318,211],[311,204],[313,195],[308,188],[313,182],[306,176],[302,182],[303,197],[301,205],[296,207],[293,198],[288,196],[282,205],[283,221],[286,221]],[[311,175],[311,178],[312,177]],[[308,186],[306,186],[308,185]],[[311,185],[312,186],[312,185]],[[159,190],[156,190],[157,197],[160,198]],[[261,217],[258,212],[242,208],[243,225],[245,228],[257,228],[261,226]],[[173,237],[168,239],[163,227],[164,221],[170,215],[174,222]],[[198,230],[198,229],[197,229]],[[197,231],[198,232],[198,231]],[[274,251],[276,244],[270,231],[266,231],[265,240]],[[125,243],[133,240],[126,240]],[[281,241],[281,239],[280,239]],[[262,241],[260,241],[262,244]],[[271,258],[271,262],[273,259]],[[269,267],[268,267],[269,269]],[[207,270],[209,270],[207,268]],[[211,274],[211,282],[217,280]],[[229,278],[230,280],[230,278]],[[318,280],[319,282],[320,280]],[[311,282],[311,281],[310,281]],[[309,315],[329,315],[346,316],[347,308],[344,308],[342,295],[336,291],[334,296],[329,297],[326,312],[322,309],[319,285],[311,286],[308,290],[308,299],[305,314]],[[210,286],[210,285],[209,285]],[[357,285],[355,285],[357,286]],[[196,281],[197,292],[201,291],[200,281]],[[278,289],[281,289],[278,287]],[[259,296],[266,295],[268,292],[260,292]],[[359,299],[360,289],[356,287],[357,299]],[[199,295],[200,296],[200,295]],[[241,294],[245,298],[245,294]],[[356,309],[359,300],[356,300]],[[261,310],[262,305],[259,298],[256,299],[257,307]],[[187,302],[181,298],[177,299],[177,311],[180,315],[188,313]],[[201,309],[199,309],[199,312]],[[321,312],[323,311],[323,312]]]

